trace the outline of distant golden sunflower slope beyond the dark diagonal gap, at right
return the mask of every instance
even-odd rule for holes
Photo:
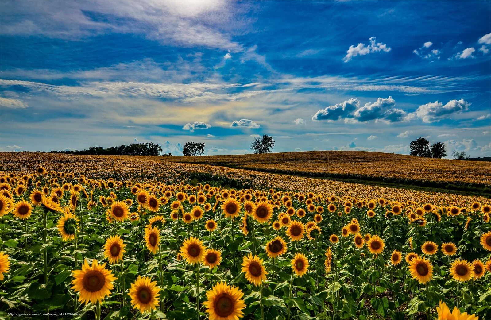
[[[477,187],[486,188],[491,193],[491,166],[487,161],[432,159],[364,151],[164,157],[163,160],[311,177],[363,179],[431,187],[451,185],[462,189]]]

